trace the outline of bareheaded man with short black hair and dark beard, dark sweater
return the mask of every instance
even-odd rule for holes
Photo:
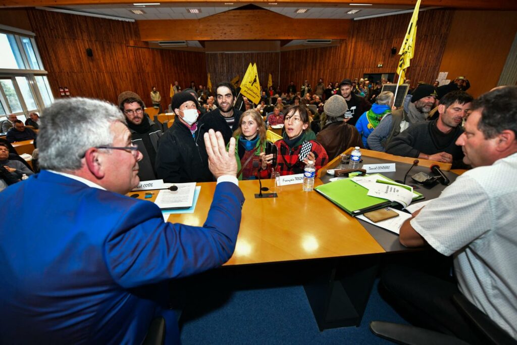
[[[204,131],[213,129],[221,132],[224,143],[227,144],[232,138],[233,132],[239,128],[239,118],[242,115],[240,110],[233,107],[235,101],[233,85],[228,82],[219,83],[216,87],[216,100],[218,109],[203,115],[200,125],[203,125]]]

